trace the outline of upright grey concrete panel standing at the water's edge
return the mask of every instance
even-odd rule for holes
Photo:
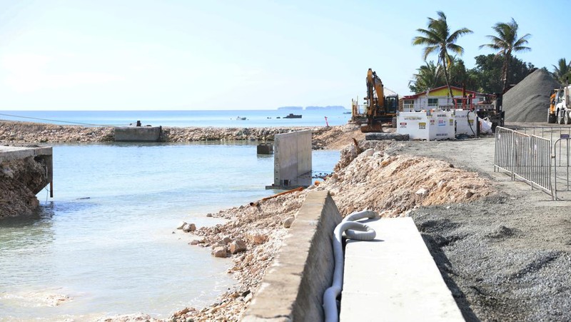
[[[311,131],[276,134],[273,145],[274,186],[309,186],[311,184]]]

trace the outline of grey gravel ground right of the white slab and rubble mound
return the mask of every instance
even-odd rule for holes
[[[493,149],[493,139],[405,144],[398,153],[476,171],[499,191],[410,216],[467,321],[570,321],[571,202],[494,173]]]

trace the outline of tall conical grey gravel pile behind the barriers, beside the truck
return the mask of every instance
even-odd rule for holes
[[[507,123],[547,122],[550,92],[560,87],[552,76],[542,69],[529,74],[503,97]]]

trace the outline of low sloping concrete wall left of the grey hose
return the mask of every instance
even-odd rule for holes
[[[341,221],[327,191],[310,192],[243,321],[323,321],[333,280],[333,229]]]

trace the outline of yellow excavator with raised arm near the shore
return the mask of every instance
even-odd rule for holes
[[[398,95],[385,96],[383,82],[372,69],[367,71],[367,124],[361,126],[361,132],[383,132],[383,123],[393,123],[398,111]]]

